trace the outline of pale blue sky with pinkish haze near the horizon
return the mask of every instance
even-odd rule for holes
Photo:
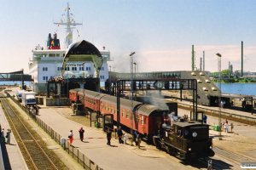
[[[64,46],[65,29],[53,22],[70,4],[73,18],[83,23],[73,30],[73,42],[86,40],[106,47],[114,71],[130,71],[131,52],[138,71],[191,71],[205,51],[205,70],[256,71],[256,1],[254,0],[0,0],[0,72],[28,72],[32,49],[45,46],[57,33]]]

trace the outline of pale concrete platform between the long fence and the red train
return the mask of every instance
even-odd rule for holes
[[[117,139],[112,139],[112,146],[109,146],[106,133],[103,133],[102,130],[96,127],[84,127],[77,122],[68,120],[59,115],[53,108],[42,108],[39,113],[38,117],[42,121],[64,137],[68,136],[69,131],[72,129],[74,147],[78,148],[85,156],[88,156],[91,161],[94,161],[103,169],[170,169],[170,166],[174,166],[177,169],[193,169],[190,166],[184,167],[180,163],[173,164],[172,161],[174,160],[178,162],[177,158],[157,150],[152,145],[141,144],[141,149],[138,149],[136,146],[129,144],[119,144]],[[85,130],[84,142],[79,139],[80,127]]]

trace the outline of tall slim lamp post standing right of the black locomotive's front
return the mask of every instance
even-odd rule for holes
[[[218,57],[218,139],[221,140],[221,54],[216,54]]]

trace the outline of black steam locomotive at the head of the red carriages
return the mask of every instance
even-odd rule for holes
[[[153,141],[158,149],[166,150],[181,160],[214,156],[209,125],[201,122],[165,121],[160,125],[159,134],[154,136]]]

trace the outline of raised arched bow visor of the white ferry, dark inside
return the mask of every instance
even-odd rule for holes
[[[74,42],[67,49],[62,63],[61,77],[64,76],[66,65],[70,61],[92,62],[96,68],[96,77],[99,76],[103,63],[101,52],[92,43],[85,40]]]

